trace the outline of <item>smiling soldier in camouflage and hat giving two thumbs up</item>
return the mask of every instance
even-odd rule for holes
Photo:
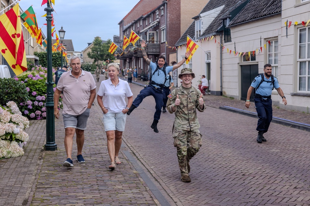
[[[167,102],[167,110],[171,114],[175,112],[174,146],[177,148],[183,182],[191,181],[189,160],[199,151],[202,143],[196,108],[200,112],[206,109],[201,92],[192,86],[194,77],[192,69],[182,69],[179,78],[183,83],[168,95]]]

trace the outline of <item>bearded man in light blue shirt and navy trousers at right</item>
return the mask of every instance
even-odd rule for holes
[[[287,104],[286,98],[283,94],[282,89],[279,86],[277,78],[273,77],[271,74],[272,67],[270,64],[264,65],[264,74],[259,74],[253,80],[246,97],[246,108],[250,107],[250,96],[252,90],[255,88],[255,108],[257,111],[257,116],[259,117],[256,130],[258,131],[258,136],[256,141],[262,143],[267,141],[263,137],[263,133],[268,131],[270,122],[272,120],[272,100],[271,93],[273,88],[275,88],[278,94],[282,97],[282,102],[284,105]]]

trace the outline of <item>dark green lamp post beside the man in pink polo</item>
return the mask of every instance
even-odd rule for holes
[[[46,21],[47,21],[47,101],[46,101],[46,144],[45,150],[55,151],[57,145],[55,144],[55,122],[54,122],[54,90],[53,90],[53,75],[52,75],[52,11],[50,1],[47,1]]]

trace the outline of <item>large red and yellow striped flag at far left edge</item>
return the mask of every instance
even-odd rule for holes
[[[27,70],[27,60],[18,3],[0,16],[0,31],[0,52],[19,75]]]

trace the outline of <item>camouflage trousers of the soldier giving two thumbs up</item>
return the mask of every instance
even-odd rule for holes
[[[175,129],[173,138],[174,146],[177,149],[177,156],[181,176],[188,175],[187,165],[199,151],[202,144],[202,135],[198,129],[187,131],[182,129]]]

